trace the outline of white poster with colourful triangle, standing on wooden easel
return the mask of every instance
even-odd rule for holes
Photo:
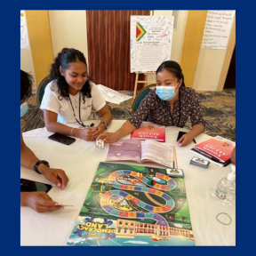
[[[171,60],[173,16],[131,16],[131,73],[155,72]]]

